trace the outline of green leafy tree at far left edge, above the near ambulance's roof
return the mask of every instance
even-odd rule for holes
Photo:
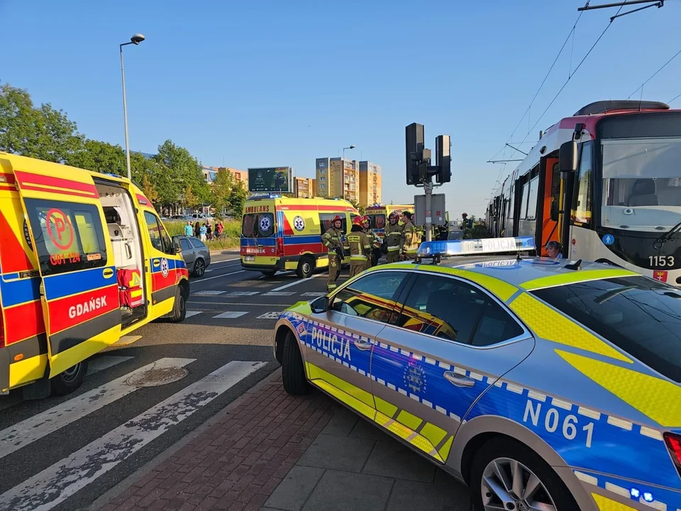
[[[0,150],[57,163],[83,146],[84,136],[62,110],[33,106],[24,89],[0,87]]]

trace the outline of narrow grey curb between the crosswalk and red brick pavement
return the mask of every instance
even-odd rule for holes
[[[275,365],[275,363],[272,363],[272,365]],[[77,511],[99,510],[101,507],[104,507],[106,504],[111,502],[111,500],[118,497],[118,495],[121,495],[121,493],[126,491],[134,483],[136,483],[138,480],[140,480],[148,473],[150,473],[150,471],[152,471],[155,467],[160,465],[162,461],[165,461],[165,459],[170,458],[170,456],[179,451],[179,449],[182,449],[182,447],[189,444],[190,441],[194,440],[197,436],[205,432],[206,429],[209,429],[210,427],[214,426],[216,422],[220,421],[225,415],[229,414],[231,410],[233,410],[235,407],[238,407],[238,405],[240,405],[241,402],[247,400],[251,395],[253,395],[253,393],[255,393],[256,390],[259,390],[261,387],[265,387],[269,385],[273,380],[276,380],[277,377],[279,376],[279,371],[277,369],[278,367],[276,367],[275,370],[272,371],[272,373],[268,374],[267,376],[265,376],[265,378],[262,378],[262,380],[253,385],[253,387],[243,392],[242,395],[237,397],[236,400],[233,400],[226,407],[217,412],[213,417],[209,417],[209,419],[207,419],[206,422],[200,424],[192,432],[187,433],[181,439],[175,442],[175,444],[172,444],[172,446],[165,449],[165,451],[163,451],[161,454],[150,459],[147,463],[145,463],[143,466],[140,466],[140,468],[135,470],[128,477],[121,480],[120,483],[114,485],[113,487],[109,488],[109,490],[106,490],[106,492],[99,495],[99,497],[96,498],[92,502],[92,504],[90,504],[87,507],[82,507],[80,510]]]

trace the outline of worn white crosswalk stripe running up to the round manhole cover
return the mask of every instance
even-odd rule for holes
[[[187,366],[187,364],[195,360],[196,358],[160,358],[154,363],[147,364],[121,376],[121,378],[111,380],[109,383],[100,385],[89,390],[89,392],[85,392],[49,410],[45,410],[45,412],[35,414],[26,420],[3,429],[0,432],[0,458],[4,458],[4,456],[43,438],[43,436],[52,434],[57,429],[61,429],[92,412],[96,412],[96,410],[110,405],[112,402],[121,399],[121,397],[135,392],[135,390],[139,390],[140,387],[133,387],[126,383],[126,380],[131,376],[150,369]],[[0,509],[11,508],[4,508],[0,505]]]

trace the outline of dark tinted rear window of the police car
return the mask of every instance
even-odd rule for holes
[[[681,292],[644,277],[532,292],[650,368],[681,382]]]

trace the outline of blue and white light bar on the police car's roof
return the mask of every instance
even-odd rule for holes
[[[424,241],[416,257],[434,258],[451,255],[473,255],[485,253],[527,252],[536,250],[532,236],[518,238],[483,238],[447,241]]]

